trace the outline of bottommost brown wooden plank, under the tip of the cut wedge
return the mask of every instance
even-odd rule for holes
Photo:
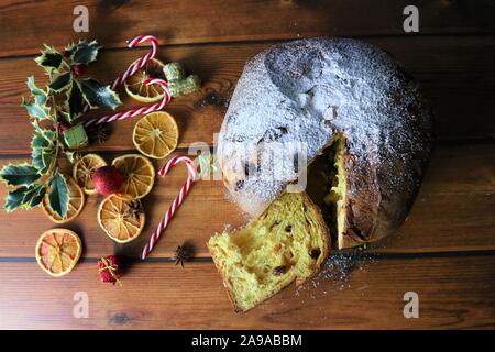
[[[102,284],[96,263],[62,278],[35,262],[0,263],[2,329],[458,329],[495,327],[495,256],[336,258],[323,274],[237,315],[213,264],[136,263],[123,286]],[[87,293],[89,317],[74,318]],[[404,294],[419,296],[406,319]]]

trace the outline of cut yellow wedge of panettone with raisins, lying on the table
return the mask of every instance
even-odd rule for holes
[[[282,194],[243,229],[217,233],[208,242],[237,311],[314,276],[329,246],[321,212],[304,193]]]

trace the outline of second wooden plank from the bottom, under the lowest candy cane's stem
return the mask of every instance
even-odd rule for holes
[[[107,156],[107,160],[111,157]],[[439,145],[409,219],[396,235],[371,250],[402,253],[495,250],[494,165],[495,144]],[[88,257],[113,251],[139,257],[185,176],[186,170],[178,167],[157,180],[144,204],[146,228],[134,242],[114,245],[99,229],[96,213],[101,197],[98,196],[89,197],[82,213],[67,227],[82,235]],[[2,186],[0,197],[4,194]],[[197,256],[209,256],[205,243],[210,235],[222,231],[226,224],[235,228],[244,221],[235,205],[227,200],[221,182],[201,180],[193,187],[152,255],[170,257],[177,245],[190,241]],[[32,257],[36,239],[51,227],[54,226],[41,209],[10,215],[0,210],[0,257]]]

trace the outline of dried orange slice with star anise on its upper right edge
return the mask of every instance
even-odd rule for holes
[[[144,228],[145,216],[139,199],[110,195],[100,205],[98,222],[116,242],[134,240]]]

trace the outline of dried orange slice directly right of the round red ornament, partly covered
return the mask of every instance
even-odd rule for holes
[[[116,157],[112,165],[119,169],[123,178],[120,194],[138,199],[152,190],[155,169],[147,157],[141,154],[125,154]]]

